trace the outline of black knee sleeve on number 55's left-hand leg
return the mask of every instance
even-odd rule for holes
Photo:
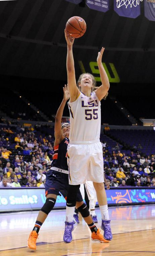
[[[67,200],[66,205],[68,207],[73,207],[76,204],[76,196],[79,191],[80,185],[69,185],[68,186],[68,193],[67,193]]]

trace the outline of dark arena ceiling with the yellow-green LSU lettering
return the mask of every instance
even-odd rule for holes
[[[87,23],[74,43],[77,75],[97,74],[94,62],[104,46],[111,82],[155,82],[155,22],[144,17],[143,4],[141,15],[130,19],[112,6],[103,13],[65,0],[0,1],[0,74],[66,80],[64,28],[72,16]]]

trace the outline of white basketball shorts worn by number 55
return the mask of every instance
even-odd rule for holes
[[[88,181],[104,182],[102,144],[69,143],[67,149],[67,163],[69,169],[69,184],[79,185]]]

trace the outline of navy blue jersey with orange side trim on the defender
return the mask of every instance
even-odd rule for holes
[[[68,170],[67,165],[67,146],[69,144],[69,139],[64,138],[60,144],[54,146],[54,155],[51,166]],[[51,168],[52,169],[52,168]]]

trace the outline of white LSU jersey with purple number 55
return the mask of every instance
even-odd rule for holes
[[[87,97],[82,92],[74,102],[68,102],[70,112],[70,143],[99,141],[101,103],[95,92]]]

